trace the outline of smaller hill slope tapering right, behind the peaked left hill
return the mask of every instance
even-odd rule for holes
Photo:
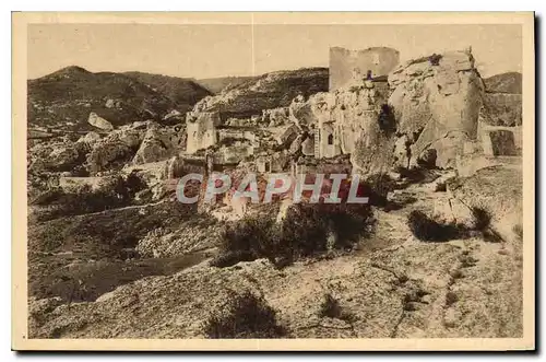
[[[200,84],[200,82],[190,78],[177,78],[142,72],[124,72],[123,74],[150,85],[155,91],[166,95],[177,105],[177,109],[182,113],[189,110],[191,106],[205,96],[215,93],[209,91]],[[187,109],[181,109],[185,106]]]

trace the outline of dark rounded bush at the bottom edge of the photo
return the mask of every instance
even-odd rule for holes
[[[246,291],[233,292],[205,322],[204,332],[209,338],[278,338],[284,329],[265,300]]]

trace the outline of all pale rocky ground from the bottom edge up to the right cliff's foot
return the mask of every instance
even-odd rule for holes
[[[392,194],[392,207],[375,209],[375,233],[351,253],[306,258],[284,268],[266,259],[215,268],[209,266],[206,253],[193,253],[193,243],[178,244],[178,253],[165,247],[183,236],[162,236],[154,246],[147,235],[139,247],[158,258],[129,258],[102,267],[96,267],[100,261],[72,262],[59,270],[70,269],[76,278],[90,265],[94,269],[95,279],[87,273],[76,290],[103,279],[100,285],[93,297],[73,301],[55,291],[49,297],[34,292],[31,337],[207,337],[207,323],[226,300],[245,292],[276,312],[278,337],[285,338],[521,337],[522,241],[513,219],[519,206],[507,208],[501,197],[494,196],[502,189],[520,192],[514,197],[521,198],[521,171],[513,165],[486,168],[456,185],[448,183],[446,190],[438,185],[450,175],[439,176]],[[467,217],[463,209],[446,211],[439,206],[458,200],[474,205],[476,195],[494,215],[491,227],[511,220],[512,227],[499,230],[500,238],[476,234],[434,243],[412,234],[407,225],[412,210],[463,220]],[[187,229],[195,234],[200,227],[206,223]],[[97,278],[97,270],[103,277]],[[105,275],[118,280],[104,280]]]

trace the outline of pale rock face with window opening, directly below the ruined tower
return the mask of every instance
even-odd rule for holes
[[[371,174],[392,165],[396,125],[387,105],[389,94],[387,83],[365,81],[307,102],[295,100],[290,117],[313,135],[316,157],[351,154],[355,172]]]

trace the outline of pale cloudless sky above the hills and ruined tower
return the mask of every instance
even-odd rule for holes
[[[329,48],[387,46],[401,61],[472,46],[482,77],[521,71],[520,25],[31,24],[28,78],[68,66],[182,78],[328,67]]]

